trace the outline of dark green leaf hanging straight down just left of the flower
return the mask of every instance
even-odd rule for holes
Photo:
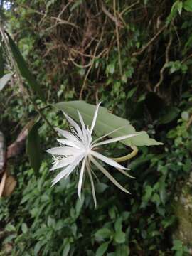
[[[41,166],[41,144],[40,137],[38,135],[38,123],[34,124],[28,133],[26,152],[28,154],[31,167],[37,173]]]

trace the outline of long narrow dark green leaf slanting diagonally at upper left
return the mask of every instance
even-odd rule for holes
[[[26,81],[28,82],[28,85],[30,85],[33,92],[37,93],[38,97],[40,97],[41,100],[45,101],[43,93],[41,92],[40,86],[37,84],[36,79],[34,78],[33,74],[28,70],[28,66],[26,64],[26,61],[24,60],[23,56],[21,55],[20,50],[14,43],[11,36],[9,36],[9,33],[6,33],[9,38],[9,45],[11,48],[11,52],[14,55],[14,59],[16,60],[16,63],[18,65],[18,69],[21,72],[21,75],[23,78],[26,78]]]

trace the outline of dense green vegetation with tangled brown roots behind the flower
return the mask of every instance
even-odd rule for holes
[[[188,255],[190,242],[173,234],[174,201],[192,164],[192,1],[0,3],[1,26],[21,50],[46,102],[102,101],[164,143],[139,147],[129,162],[134,180],[111,170],[130,196],[99,175],[95,209],[89,183],[79,201],[75,175],[50,187],[51,159],[44,152],[54,146],[55,135],[44,119],[36,120],[43,162],[34,171],[27,154],[8,161],[17,186],[0,201],[0,254]],[[0,57],[1,75],[16,72],[4,49]],[[17,75],[1,90],[0,129],[7,145],[37,117],[36,107],[53,127],[65,127],[63,114],[38,96]],[[107,150],[113,156],[127,151],[122,144]]]

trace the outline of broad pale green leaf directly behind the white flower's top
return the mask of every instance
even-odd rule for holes
[[[82,118],[86,125],[91,125],[93,114],[95,112],[95,105],[87,104],[84,101],[70,101],[70,102],[60,102],[55,105],[58,110],[63,110],[65,113],[73,117],[77,122],[79,122],[78,111],[82,114]],[[149,135],[146,132],[136,132],[134,127],[129,123],[128,120],[123,119],[121,117],[117,117],[114,114],[108,112],[105,107],[100,107],[97,116],[97,122],[95,124],[95,133],[97,135],[107,134],[108,132],[114,131],[119,127],[123,127],[119,129],[117,132],[110,134],[110,137],[118,137],[127,134],[138,134],[136,137],[132,137],[130,139],[124,139],[122,141],[123,144],[130,146],[152,146],[152,145],[161,145],[161,142],[156,142],[155,139],[149,138]]]

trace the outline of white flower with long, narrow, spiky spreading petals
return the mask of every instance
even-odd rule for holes
[[[60,181],[61,178],[67,178],[75,170],[75,168],[78,167],[80,162],[82,162],[80,167],[80,178],[78,181],[78,196],[80,198],[83,176],[85,175],[85,172],[87,172],[90,178],[92,196],[95,202],[95,206],[97,204],[97,201],[95,196],[95,186],[92,179],[92,174],[94,173],[91,169],[90,164],[94,164],[97,167],[97,169],[102,171],[102,173],[105,174],[105,176],[107,176],[107,178],[109,178],[110,181],[112,181],[112,183],[114,183],[114,185],[116,185],[122,191],[129,193],[129,191],[123,188],[112,177],[112,175],[100,164],[99,161],[97,161],[97,159],[105,162],[105,164],[109,164],[110,166],[115,167],[116,169],[121,171],[122,174],[129,176],[129,174],[127,174],[127,172],[124,171],[127,168],[118,164],[116,161],[98,153],[96,151],[96,147],[102,146],[104,144],[110,144],[112,142],[118,142],[120,140],[134,137],[137,135],[137,134],[129,134],[121,137],[116,137],[114,139],[106,139],[105,141],[99,142],[101,139],[112,134],[112,132],[116,132],[118,130],[118,129],[115,129],[114,131],[109,132],[108,134],[105,134],[104,136],[92,142],[92,131],[95,127],[95,122],[97,119],[97,113],[98,113],[99,107],[100,107],[100,104],[97,105],[95,109],[95,114],[92,119],[92,124],[90,129],[89,127],[85,127],[85,123],[83,122],[80,112],[78,112],[78,116],[80,119],[81,127],[73,119],[71,119],[67,114],[64,113],[66,119],[68,119],[68,122],[73,126],[73,131],[68,132],[68,131],[56,128],[57,132],[61,134],[63,137],[65,137],[65,139],[58,139],[58,142],[60,144],[63,144],[63,146],[59,146],[59,147],[55,147],[47,150],[48,153],[53,154],[53,159],[54,159],[53,167],[50,170],[61,169],[60,173],[54,178],[53,185],[55,185],[55,183]],[[103,122],[105,122],[105,120]],[[121,128],[122,127],[120,127],[119,129]]]

